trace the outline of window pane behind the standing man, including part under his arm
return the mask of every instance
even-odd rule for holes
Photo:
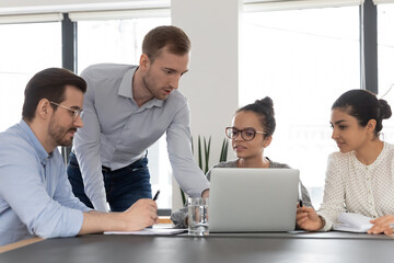
[[[153,27],[170,24],[170,18],[79,21],[78,71],[92,64],[138,65],[143,36]],[[152,193],[160,188],[159,208],[171,208],[172,171],[165,135],[148,149]]]

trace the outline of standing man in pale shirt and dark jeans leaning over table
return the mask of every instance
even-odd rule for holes
[[[190,114],[177,90],[188,70],[190,41],[175,26],[150,31],[139,66],[101,64],[86,68],[83,128],[76,134],[68,176],[86,206],[123,211],[151,198],[147,149],[166,133],[173,173],[190,196],[208,196],[209,182],[190,147]]]

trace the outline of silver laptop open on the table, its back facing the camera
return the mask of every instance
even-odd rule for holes
[[[296,169],[212,169],[209,232],[294,230],[299,182]]]

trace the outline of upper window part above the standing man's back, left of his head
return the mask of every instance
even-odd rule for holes
[[[170,18],[79,21],[78,71],[100,62],[138,65],[143,36],[165,24]]]

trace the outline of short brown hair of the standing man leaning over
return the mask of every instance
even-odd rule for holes
[[[142,53],[150,60],[154,60],[161,53],[161,48],[167,46],[169,52],[175,55],[185,55],[190,52],[190,39],[186,33],[173,25],[158,26],[144,36]]]

